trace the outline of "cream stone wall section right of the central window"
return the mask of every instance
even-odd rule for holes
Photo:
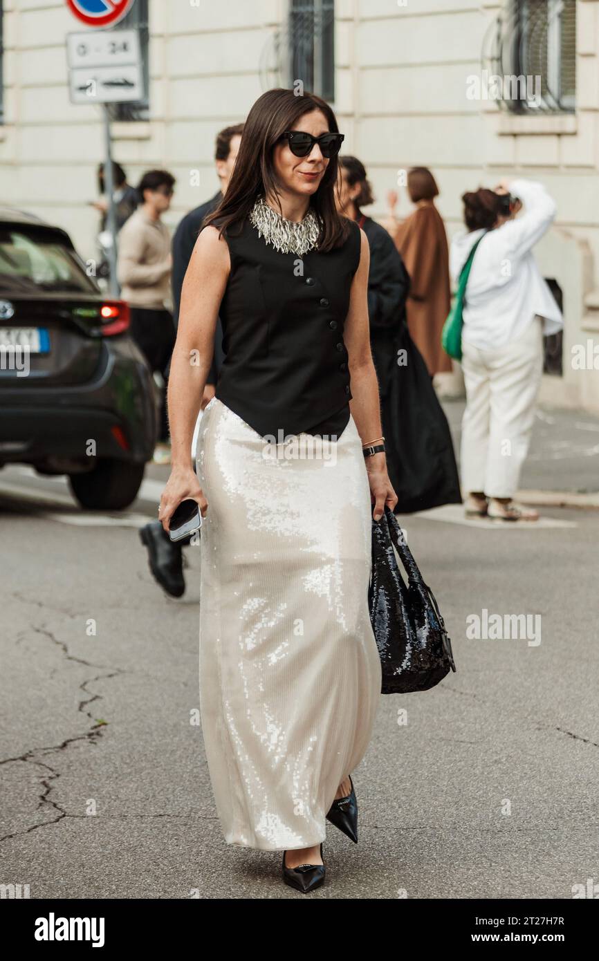
[[[576,115],[536,118],[466,97],[500,3],[344,0],[341,7],[347,20],[339,33],[354,77],[338,106],[354,116],[375,215],[385,212],[397,170],[414,165],[434,170],[450,235],[462,228],[464,190],[510,174],[542,180],[558,217],[538,258],[562,286],[566,321],[563,378],[545,378],[543,398],[599,408],[599,369],[576,371],[570,363],[570,348],[599,333],[599,3],[577,3]],[[401,204],[409,212],[405,191]],[[599,336],[596,344],[599,355]]]

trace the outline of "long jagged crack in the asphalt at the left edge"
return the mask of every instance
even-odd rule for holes
[[[93,668],[94,670],[100,670],[100,671],[105,670],[105,668],[103,668],[103,666],[100,664],[92,664],[90,661],[85,660],[83,657],[76,657],[74,654],[71,654],[68,650],[68,646],[63,641],[59,640],[51,630],[48,630],[45,627],[37,628],[33,626],[31,629],[35,633],[41,634],[42,636],[49,638],[53,644],[59,647],[62,651],[62,655],[65,660],[75,661],[78,664],[83,664],[85,667],[90,667],[90,668]],[[0,765],[12,764],[17,761],[21,761],[24,764],[33,764],[37,767],[44,768],[46,771],[48,771],[50,773],[49,775],[42,776],[40,778],[40,782],[43,790],[38,795],[39,800],[37,803],[37,810],[40,810],[40,809],[45,810],[47,807],[51,807],[51,808],[54,808],[55,811],[59,812],[58,817],[56,818],[51,818],[48,821],[42,821],[38,825],[30,825],[29,827],[26,827],[24,829],[21,829],[18,831],[12,831],[12,833],[10,834],[5,834],[4,836],[0,837],[0,844],[2,844],[3,841],[8,841],[11,838],[17,837],[21,834],[29,834],[31,833],[31,831],[35,831],[39,827],[58,824],[59,821],[62,821],[62,818],[77,817],[77,815],[68,814],[64,810],[64,808],[61,807],[59,803],[57,803],[57,801],[53,801],[52,798],[50,798],[50,794],[54,790],[52,781],[57,780],[61,776],[61,772],[51,767],[51,765],[46,764],[41,760],[37,760],[37,758],[44,756],[46,754],[52,754],[59,751],[66,751],[71,744],[75,744],[78,741],[86,741],[90,745],[95,745],[98,742],[98,740],[102,737],[103,728],[106,727],[106,724],[98,723],[93,718],[90,711],[86,710],[88,704],[91,704],[94,701],[102,700],[102,695],[94,694],[93,691],[88,690],[87,684],[92,684],[96,680],[107,680],[110,678],[116,678],[117,675],[119,674],[127,674],[127,673],[128,673],[127,671],[124,671],[121,668],[114,668],[110,674],[99,674],[93,678],[86,678],[85,680],[82,681],[81,684],[79,684],[79,690],[83,691],[85,694],[90,695],[90,697],[84,698],[83,700],[81,700],[79,702],[77,710],[79,713],[85,714],[90,721],[94,722],[92,726],[86,731],[85,734],[78,734],[76,737],[66,738],[64,741],[62,741],[61,744],[51,745],[46,748],[35,748],[32,751],[26,751],[15,757],[6,757],[0,760]]]

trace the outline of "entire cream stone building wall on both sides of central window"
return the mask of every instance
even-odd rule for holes
[[[102,159],[100,111],[71,105],[66,82],[65,35],[80,27],[63,0],[5,0],[4,8],[0,202],[61,224],[93,256],[97,214],[87,201]],[[368,169],[375,216],[385,213],[398,169],[430,166],[449,234],[461,226],[465,189],[511,173],[542,179],[559,214],[538,256],[546,276],[567,287],[568,344],[599,343],[599,0],[578,0],[575,117],[513,118],[467,99],[466,78],[480,71],[499,9],[475,0],[337,0],[334,106],[344,150]],[[174,226],[215,191],[214,136],[262,92],[262,52],[287,0],[150,0],[150,12],[152,119],[115,124],[114,157],[132,183],[151,166],[174,173]],[[400,213],[409,209],[402,192]],[[599,407],[599,371],[574,372],[568,360],[564,352],[562,382],[551,379],[544,391],[555,403]]]

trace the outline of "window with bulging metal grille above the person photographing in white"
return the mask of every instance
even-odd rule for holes
[[[508,0],[486,37],[483,57],[493,99],[503,110],[573,112],[576,0]]]

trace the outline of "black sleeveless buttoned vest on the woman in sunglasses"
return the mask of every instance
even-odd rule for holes
[[[348,224],[340,247],[303,258],[275,250],[247,219],[223,234],[231,273],[219,309],[225,359],[215,394],[270,441],[302,431],[338,436],[349,420],[343,327],[361,236]]]

